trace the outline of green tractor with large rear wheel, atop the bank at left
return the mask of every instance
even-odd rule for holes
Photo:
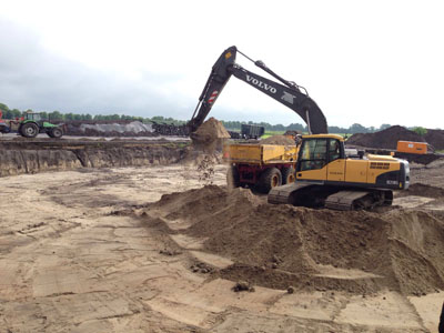
[[[19,133],[26,138],[36,138],[39,133],[47,133],[50,138],[61,138],[63,131],[60,127],[41,118],[40,113],[27,112],[20,122]]]

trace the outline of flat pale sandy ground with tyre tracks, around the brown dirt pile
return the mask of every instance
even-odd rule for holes
[[[202,186],[199,175],[174,165],[0,179],[0,332],[437,331],[443,292],[235,293],[232,281],[193,272],[231,262],[183,225],[170,235],[118,213]],[[224,167],[213,182],[224,184]]]

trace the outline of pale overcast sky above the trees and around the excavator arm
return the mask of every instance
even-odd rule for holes
[[[234,44],[305,87],[331,125],[444,128],[443,9],[406,0],[0,0],[0,102],[186,120]],[[235,78],[210,115],[302,123]]]

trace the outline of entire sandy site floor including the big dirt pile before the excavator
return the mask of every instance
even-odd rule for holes
[[[0,178],[0,332],[437,332],[441,161],[376,212],[270,205],[202,161]]]

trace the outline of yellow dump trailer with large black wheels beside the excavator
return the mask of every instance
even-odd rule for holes
[[[226,144],[223,160],[231,164],[226,180],[230,186],[250,186],[264,193],[294,182],[296,145]]]

